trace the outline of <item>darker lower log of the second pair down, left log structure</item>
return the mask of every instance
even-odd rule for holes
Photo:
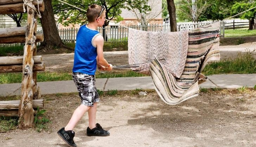
[[[44,41],[44,35],[43,34],[36,34],[36,42],[43,42]],[[26,38],[25,35],[19,35],[19,36],[10,36],[10,37],[1,37],[0,43],[25,43]]]

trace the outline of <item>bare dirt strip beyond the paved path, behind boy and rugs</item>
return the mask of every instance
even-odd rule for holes
[[[245,53],[246,49],[252,51],[252,54],[256,58],[256,42],[244,43],[240,45],[226,45],[220,46],[221,60],[236,58],[238,52]],[[50,72],[72,72],[73,67],[73,53],[70,54],[47,54],[42,55],[43,62],[46,65],[46,71]],[[113,65],[125,65],[128,63],[127,51],[114,51],[104,52],[105,59]]]

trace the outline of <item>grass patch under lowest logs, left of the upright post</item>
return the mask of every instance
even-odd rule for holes
[[[17,128],[17,117],[0,117],[0,132],[10,131]]]

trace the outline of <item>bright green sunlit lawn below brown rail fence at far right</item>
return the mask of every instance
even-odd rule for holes
[[[225,30],[225,37],[245,37],[245,36],[256,36],[256,30],[248,30],[248,28]]]

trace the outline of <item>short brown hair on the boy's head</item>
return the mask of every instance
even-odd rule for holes
[[[97,19],[98,15],[101,13],[101,10],[102,10],[102,6],[99,6],[96,4],[92,4],[91,6],[89,6],[89,8],[87,9],[87,13],[86,13],[87,20],[89,22],[94,22]],[[103,10],[103,12],[101,13],[101,15],[99,17],[102,18],[104,13],[106,13],[105,9]]]

